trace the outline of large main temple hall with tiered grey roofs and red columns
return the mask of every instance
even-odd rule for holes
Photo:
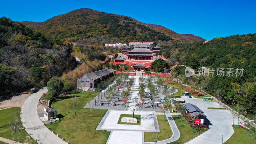
[[[153,51],[148,49],[149,46],[147,44],[135,44],[133,47],[134,49],[128,51],[129,54],[126,54],[129,60],[152,60],[154,54],[152,54]]]

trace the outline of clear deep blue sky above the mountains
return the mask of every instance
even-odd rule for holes
[[[14,0],[12,3],[1,2],[0,17],[42,22],[80,8],[126,15],[144,23],[162,25],[179,34],[194,34],[207,40],[256,33],[256,1],[253,0]]]

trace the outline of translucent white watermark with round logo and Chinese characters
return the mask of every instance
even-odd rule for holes
[[[212,68],[212,70],[208,69],[208,68],[198,68],[197,69],[197,74],[195,74],[195,71],[192,68],[186,68],[185,69],[185,75],[186,77],[190,77],[193,75],[196,76],[243,76],[243,72],[244,72],[244,68],[217,68],[216,70],[214,70],[214,68]]]

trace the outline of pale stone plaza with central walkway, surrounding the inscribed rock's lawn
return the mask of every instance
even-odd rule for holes
[[[139,92],[136,91],[139,88],[139,77],[140,76],[133,76],[134,77],[134,84],[132,85],[130,91],[130,99],[128,100],[128,106],[124,108],[121,95],[118,93],[117,97],[120,99],[113,99],[111,104],[108,104],[108,101],[104,99],[104,92],[102,91],[94,100],[91,100],[90,103],[92,108],[100,108],[100,109],[108,109],[107,113],[101,120],[100,124],[96,128],[97,130],[108,130],[111,131],[111,134],[108,138],[107,143],[144,143],[144,134],[143,132],[152,132],[150,127],[152,125],[158,125],[156,112],[161,111],[159,108],[164,104],[164,96],[161,92],[159,92],[157,96],[157,107],[152,108],[150,105],[152,103],[149,100],[149,97],[146,99],[144,107],[138,108],[138,104],[134,101],[134,98],[140,99]],[[147,85],[146,77],[144,77],[143,83]],[[154,84],[155,85],[155,84]],[[120,91],[121,92],[121,91]],[[148,92],[148,88],[145,89],[145,92]],[[177,92],[177,90],[175,91]],[[102,98],[101,98],[102,95]],[[103,105],[100,105],[100,102],[104,102]],[[116,105],[114,106],[113,103]],[[89,108],[89,103],[84,106],[84,108]],[[119,117],[121,114],[130,114],[132,116],[132,109],[136,108],[135,115],[141,115],[140,125],[131,125],[131,124],[117,124]],[[159,115],[163,115],[163,113],[157,113]],[[172,131],[174,132],[172,137],[174,137],[174,141],[178,140],[180,137],[180,132],[176,124],[174,123],[171,114],[167,115],[167,120],[171,126]],[[172,137],[167,140],[158,141],[157,143],[169,143],[172,141]],[[155,143],[155,142],[153,142]],[[150,144],[150,142],[148,143]]]

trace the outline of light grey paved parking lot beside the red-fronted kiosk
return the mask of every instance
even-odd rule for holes
[[[188,143],[194,144],[216,144],[222,143],[228,140],[234,133],[232,122],[233,115],[230,111],[224,109],[207,109],[210,108],[220,108],[220,105],[217,102],[213,101],[203,101],[203,99],[196,99],[194,97],[185,98],[181,97],[182,100],[186,100],[186,103],[191,103],[196,105],[198,108],[204,111],[204,114],[207,116],[205,123],[209,125],[209,130],[193,140],[190,140]],[[238,120],[234,118],[234,124],[238,124]]]

